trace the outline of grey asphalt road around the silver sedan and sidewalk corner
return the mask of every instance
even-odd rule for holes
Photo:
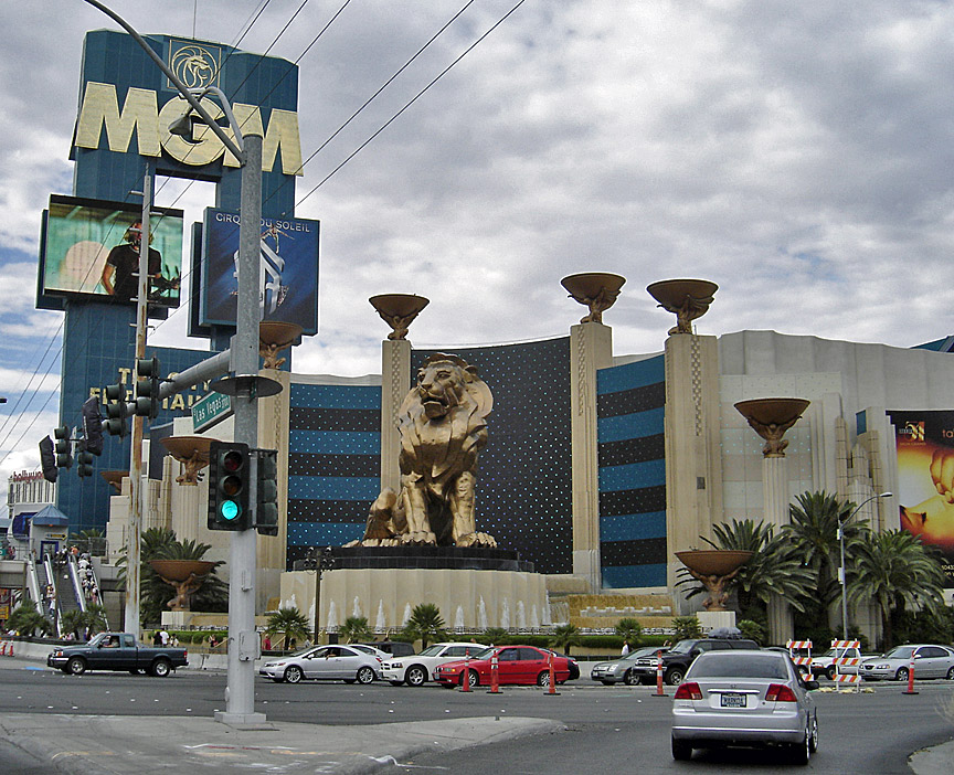
[[[157,679],[127,673],[74,677],[22,665],[0,668],[0,713],[82,713],[211,716],[224,709],[225,676],[180,670]],[[954,737],[954,683],[919,684],[904,696],[897,683],[873,684],[873,693],[816,693],[822,744],[813,773],[909,773],[908,756]],[[428,686],[420,689],[374,683],[256,683],[256,710],[269,721],[321,724],[379,724],[512,714],[556,719],[566,732],[487,745],[449,755],[403,762],[394,772],[453,772],[486,775],[579,775],[601,771],[674,773],[767,773],[788,769],[784,753],[697,752],[676,763],[669,753],[671,699],[653,697],[648,687],[602,687],[586,679],[560,687],[551,697],[537,688],[481,688],[464,693]],[[671,694],[671,689],[667,688]],[[51,733],[55,733],[51,725]],[[19,756],[19,758],[18,758]],[[0,771],[39,775],[22,752],[0,745]]]

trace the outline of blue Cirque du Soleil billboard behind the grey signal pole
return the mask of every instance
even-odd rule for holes
[[[203,326],[234,326],[239,278],[237,213],[205,210],[202,247]],[[319,222],[300,217],[263,217],[258,302],[263,320],[301,326],[318,331]]]

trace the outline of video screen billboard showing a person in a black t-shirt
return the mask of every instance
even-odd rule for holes
[[[179,306],[182,211],[152,208],[149,302]],[[40,296],[112,297],[136,304],[141,206],[51,194],[43,213]]]

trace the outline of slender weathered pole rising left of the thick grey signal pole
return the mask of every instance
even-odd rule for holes
[[[136,299],[136,361],[146,358],[149,305],[149,211],[152,209],[152,176],[142,178],[142,219],[139,232],[139,285]],[[132,380],[135,389],[136,379]],[[142,417],[132,416],[129,453],[129,530],[126,534],[126,631],[139,636],[139,549],[142,535]]]

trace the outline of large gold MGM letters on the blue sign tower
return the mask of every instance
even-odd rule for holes
[[[120,112],[116,86],[91,81],[86,84],[86,94],[80,108],[75,145],[77,148],[98,148],[105,125],[109,150],[117,153],[128,152],[135,129],[139,156],[158,157],[165,150],[177,161],[192,167],[204,167],[224,153],[225,167],[240,167],[239,160],[225,150],[222,140],[201,123],[193,125],[191,141],[169,132],[169,125],[179,118],[188,106],[189,104],[182,97],[173,97],[160,110],[156,92],[130,87]],[[213,118],[223,116],[222,108],[211,99],[203,99],[202,106]],[[235,103],[232,110],[240,126],[248,131],[262,132],[264,136],[262,147],[264,172],[272,171],[275,157],[280,150],[282,172],[304,174],[297,113],[272,108],[268,127],[265,129],[258,106]],[[225,131],[230,132],[229,129]]]

